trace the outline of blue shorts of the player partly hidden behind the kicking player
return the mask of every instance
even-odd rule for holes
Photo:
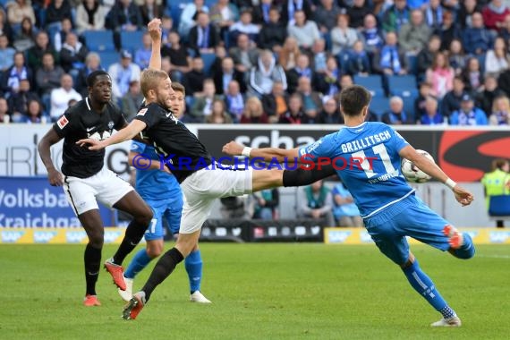
[[[170,233],[179,233],[181,215],[183,212],[183,195],[175,195],[167,200],[145,200],[152,208],[154,216],[150,221],[149,228],[145,232],[145,241],[163,239],[163,218],[166,218]]]

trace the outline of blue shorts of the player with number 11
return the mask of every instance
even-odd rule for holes
[[[397,265],[403,265],[409,259],[409,244],[405,236],[440,251],[450,248],[448,237],[443,234],[445,225],[449,223],[414,195],[366,218],[364,222],[378,249]]]

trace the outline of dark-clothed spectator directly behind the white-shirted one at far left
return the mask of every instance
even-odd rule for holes
[[[42,67],[36,72],[36,87],[46,106],[50,103],[51,91],[60,87],[64,73],[62,67],[55,65],[55,58],[51,52],[43,55]]]

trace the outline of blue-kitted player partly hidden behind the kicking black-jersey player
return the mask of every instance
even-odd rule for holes
[[[174,96],[172,98],[172,111],[180,116],[184,111],[184,87],[174,82],[172,83]],[[147,265],[152,259],[157,258],[164,247],[163,242],[163,218],[168,223],[169,231],[172,234],[179,233],[181,225],[181,213],[183,210],[183,192],[173,174],[170,174],[167,167],[160,162],[154,147],[138,141],[132,141],[132,147],[129,154],[129,164],[137,168],[136,170],[136,191],[141,198],[147,202],[154,212],[154,217],[145,233],[146,249],[142,249],[135,254],[128,268],[124,272],[124,281],[126,290],[118,290],[125,301],[132,299],[132,285],[134,277]],[[190,280],[191,302],[210,303],[210,301],[200,293],[200,283],[202,277],[202,259],[200,249],[191,251],[191,254],[185,259],[184,267]]]

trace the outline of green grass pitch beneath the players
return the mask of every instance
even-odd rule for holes
[[[508,339],[510,334],[507,245],[479,246],[470,260],[412,247],[463,320],[463,327],[440,329],[429,327],[440,319],[438,312],[373,245],[200,246],[202,292],[212,305],[188,301],[180,265],[138,319],[124,321],[123,302],[104,270],[98,280],[103,305],[81,305],[84,245],[2,245],[0,338],[451,340]],[[103,259],[115,249],[106,246]],[[153,266],[140,274],[135,289]]]

